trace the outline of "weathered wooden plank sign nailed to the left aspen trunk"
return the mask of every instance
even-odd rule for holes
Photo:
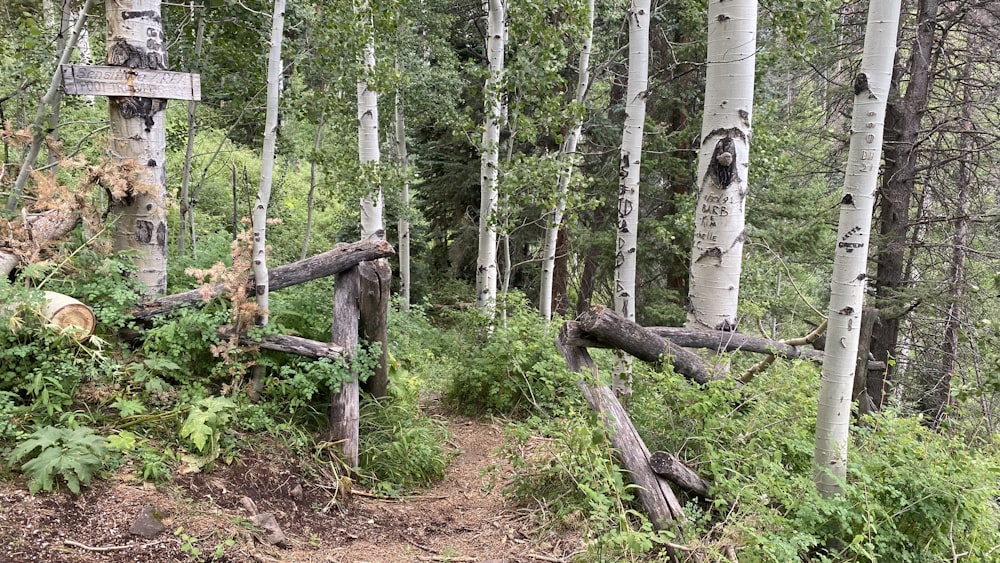
[[[62,65],[67,94],[201,100],[201,76],[125,66]]]

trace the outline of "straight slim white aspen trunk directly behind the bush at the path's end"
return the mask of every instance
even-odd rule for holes
[[[481,148],[479,253],[476,259],[476,304],[491,308],[497,298],[497,231],[493,225],[499,191],[497,172],[500,152],[500,121],[503,117],[504,50],[507,38],[507,14],[503,0],[486,4],[486,78],[484,104],[485,127]]]

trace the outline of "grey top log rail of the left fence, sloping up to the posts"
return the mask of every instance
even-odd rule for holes
[[[395,252],[392,246],[383,240],[340,243],[331,250],[305,260],[278,266],[268,272],[268,282],[271,291],[277,291],[307,281],[337,274],[357,266],[361,262],[387,258]],[[222,284],[213,288],[214,294],[224,290]],[[256,284],[253,276],[246,283],[248,297],[256,295]],[[183,293],[167,295],[140,303],[132,316],[136,320],[149,322],[154,317],[168,314],[181,307],[200,307],[205,303],[201,289],[192,289]]]

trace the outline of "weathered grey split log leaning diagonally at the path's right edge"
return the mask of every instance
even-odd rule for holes
[[[577,386],[583,392],[590,408],[598,413],[609,427],[611,445],[629,472],[632,482],[637,485],[639,500],[645,507],[650,521],[658,530],[679,528],[684,512],[670,488],[670,483],[650,469],[649,449],[629,419],[628,413],[622,408],[611,389],[606,385],[594,383],[599,381],[597,366],[594,365],[586,348],[566,343],[565,328],[563,325],[559,332],[556,347],[566,360],[567,367],[583,375],[577,381]]]

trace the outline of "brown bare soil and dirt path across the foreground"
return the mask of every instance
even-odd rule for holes
[[[332,487],[275,451],[244,452],[210,473],[159,486],[126,466],[76,496],[32,496],[23,482],[0,484],[0,562],[531,563],[579,553],[578,535],[539,534],[536,510],[505,501],[502,426],[448,420],[455,458],[445,479],[402,499],[355,491],[334,502]],[[280,547],[249,521],[252,505],[274,514],[286,536]],[[150,539],[130,533],[144,507],[165,526]]]

